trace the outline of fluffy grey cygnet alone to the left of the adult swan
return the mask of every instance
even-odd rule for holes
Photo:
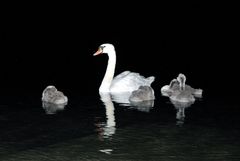
[[[68,98],[58,91],[55,86],[47,86],[42,93],[42,101],[53,104],[66,104]]]

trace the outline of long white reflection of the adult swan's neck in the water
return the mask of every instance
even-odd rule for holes
[[[114,104],[109,93],[100,93],[101,101],[105,105],[106,110],[106,123],[97,123],[97,131],[99,132],[100,139],[110,138],[116,132],[116,122],[114,115]]]

